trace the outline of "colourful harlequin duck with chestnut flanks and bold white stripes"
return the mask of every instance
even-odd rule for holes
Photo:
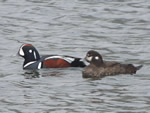
[[[81,58],[72,56],[47,55],[40,57],[36,48],[31,44],[23,44],[18,52],[23,57],[23,69],[85,67]]]

